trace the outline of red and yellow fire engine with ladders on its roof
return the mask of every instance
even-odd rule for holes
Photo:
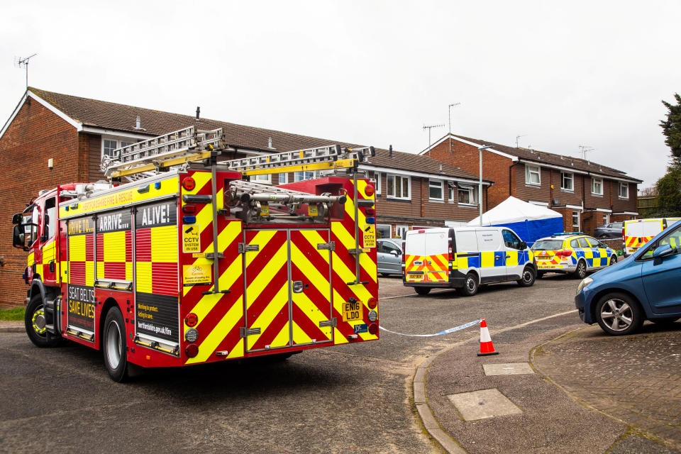
[[[240,159],[190,126],[114,150],[106,181],[41,191],[13,216],[26,331],[175,367],[375,341],[374,155],[329,145]],[[258,175],[319,172],[272,186]],[[256,177],[256,181],[250,181]]]

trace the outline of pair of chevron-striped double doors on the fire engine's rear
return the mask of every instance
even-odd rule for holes
[[[331,341],[328,235],[311,229],[244,232],[247,351]]]

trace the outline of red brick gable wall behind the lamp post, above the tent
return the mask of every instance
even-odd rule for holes
[[[445,140],[440,145],[428,150],[425,155],[453,167],[459,167],[461,170],[472,173],[472,175],[480,173],[480,153],[477,147],[458,140]],[[508,157],[497,155],[489,150],[482,150],[482,178],[494,182],[492,187],[488,189],[489,202],[485,206],[485,210],[492,209],[509,198],[510,165],[511,160]]]

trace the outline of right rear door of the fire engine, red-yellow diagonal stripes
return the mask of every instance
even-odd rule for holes
[[[331,249],[328,230],[290,231],[292,334],[294,345],[331,341]],[[300,289],[297,292],[297,289]],[[328,323],[327,323],[328,324]]]

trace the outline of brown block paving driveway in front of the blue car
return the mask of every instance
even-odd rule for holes
[[[589,326],[542,345],[535,362],[573,397],[681,448],[681,323],[633,336]]]

